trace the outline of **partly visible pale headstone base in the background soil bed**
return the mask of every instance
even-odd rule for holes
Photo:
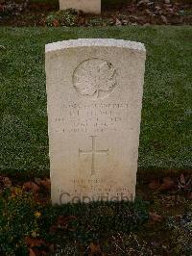
[[[60,10],[75,9],[84,13],[101,13],[101,0],[60,0]]]

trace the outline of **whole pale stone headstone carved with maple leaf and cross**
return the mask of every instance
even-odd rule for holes
[[[145,59],[133,41],[46,45],[54,204],[134,199]]]

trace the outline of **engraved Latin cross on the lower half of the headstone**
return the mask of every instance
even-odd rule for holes
[[[91,175],[94,175],[95,174],[95,158],[96,158],[96,155],[108,154],[108,149],[107,150],[96,150],[96,136],[90,136],[90,137],[92,139],[92,149],[84,151],[84,150],[81,150],[79,148],[79,155],[81,155],[81,154],[84,154],[84,155],[90,154],[90,155],[92,155]]]

